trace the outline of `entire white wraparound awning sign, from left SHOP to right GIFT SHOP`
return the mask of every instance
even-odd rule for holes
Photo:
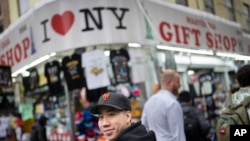
[[[52,52],[128,42],[246,52],[238,26],[183,9],[156,1],[51,1],[0,35],[0,64],[14,72]]]

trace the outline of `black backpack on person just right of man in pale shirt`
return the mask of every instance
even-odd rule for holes
[[[200,131],[200,123],[195,113],[192,110],[183,111],[184,117],[184,131],[185,135],[188,139],[195,139],[199,135]]]

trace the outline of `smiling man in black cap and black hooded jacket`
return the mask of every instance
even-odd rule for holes
[[[99,117],[99,128],[109,141],[156,141],[153,131],[131,122],[130,101],[122,94],[104,93],[90,113]]]

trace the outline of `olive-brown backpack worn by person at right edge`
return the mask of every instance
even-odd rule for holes
[[[216,125],[217,141],[229,141],[230,125],[249,125],[247,107],[250,104],[250,96],[246,97],[237,107],[231,107],[231,94],[225,100],[226,109],[222,111]]]

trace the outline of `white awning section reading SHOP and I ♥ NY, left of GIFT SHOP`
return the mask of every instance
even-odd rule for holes
[[[58,6],[60,5],[60,6]],[[136,1],[54,1],[28,11],[0,36],[0,64],[16,71],[52,52],[140,42]]]

